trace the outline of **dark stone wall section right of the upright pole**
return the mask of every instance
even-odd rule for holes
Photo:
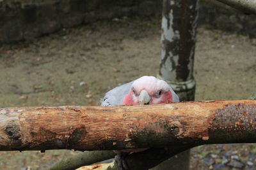
[[[256,38],[256,15],[246,15],[215,0],[203,0],[199,16],[200,25]]]

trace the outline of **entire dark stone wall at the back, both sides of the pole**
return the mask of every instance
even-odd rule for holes
[[[33,39],[63,27],[132,15],[161,15],[161,0],[0,0],[0,42]],[[201,1],[200,24],[256,37],[256,18]]]

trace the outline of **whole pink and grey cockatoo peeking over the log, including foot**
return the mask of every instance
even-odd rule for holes
[[[101,99],[100,106],[143,105],[179,102],[179,97],[164,80],[154,76],[142,76],[109,90]],[[120,169],[128,169],[123,157],[127,153],[142,152],[147,148],[115,150]],[[125,153],[125,154],[123,154]]]

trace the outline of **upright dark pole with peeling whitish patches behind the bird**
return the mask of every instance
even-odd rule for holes
[[[180,101],[195,100],[193,64],[199,0],[163,0],[161,78],[173,87]],[[189,150],[158,166],[158,170],[189,169]]]

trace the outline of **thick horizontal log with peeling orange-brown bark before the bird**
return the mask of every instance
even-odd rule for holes
[[[255,100],[0,109],[2,151],[255,142]]]

